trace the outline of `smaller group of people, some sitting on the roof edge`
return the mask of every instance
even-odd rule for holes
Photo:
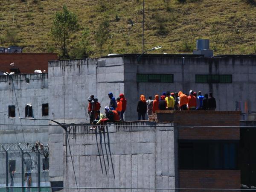
[[[104,108],[105,114],[100,113],[100,103],[97,98],[94,98],[93,95],[88,97],[88,115],[90,115],[90,124],[100,125],[104,122],[119,122],[124,121],[124,113],[126,110],[127,101],[125,95],[121,93],[118,98],[113,96],[113,93],[108,93],[110,98],[109,107]],[[91,127],[90,129],[96,129],[96,126]],[[101,131],[101,130],[100,130]]]

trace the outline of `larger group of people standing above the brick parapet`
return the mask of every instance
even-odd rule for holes
[[[145,114],[148,116],[159,110],[209,110],[215,111],[216,99],[212,93],[205,93],[202,96],[201,91],[198,94],[193,90],[189,91],[189,96],[182,91],[170,93],[164,92],[162,96],[155,95],[154,100],[152,96],[148,96],[148,100],[144,95],[140,96],[140,101],[137,104],[138,120],[145,120]]]

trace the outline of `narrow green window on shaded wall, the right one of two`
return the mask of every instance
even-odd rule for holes
[[[195,75],[196,83],[232,83],[232,75]]]

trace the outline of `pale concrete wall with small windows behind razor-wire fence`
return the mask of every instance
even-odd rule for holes
[[[29,79],[29,83],[26,83],[25,79]],[[2,148],[2,145],[6,143],[13,147],[9,148],[8,160],[16,160],[16,172],[14,178],[14,186],[21,186],[21,153],[17,147],[18,143],[35,143],[40,141],[44,145],[48,144],[48,128],[47,126],[41,126],[41,124],[48,124],[48,121],[32,121],[32,120],[20,120],[18,108],[20,111],[20,117],[25,116],[25,105],[31,104],[34,117],[42,118],[42,104],[48,103],[48,74],[20,74],[13,75],[13,84],[9,76],[0,76],[0,186],[6,185],[6,166],[5,159],[6,154]],[[17,101],[15,97],[17,96]],[[15,105],[15,117],[8,116],[8,106]],[[44,117],[43,117],[44,118]],[[14,124],[30,124],[29,125],[14,125]],[[7,148],[6,148],[7,149]],[[25,151],[25,150],[24,150]],[[34,164],[32,172],[32,186],[37,186],[38,169],[37,164],[40,163],[41,169],[41,186],[49,186],[48,171],[42,170],[42,158],[40,162],[37,160],[37,154],[33,153],[29,148],[29,151],[25,151],[24,159],[31,159]],[[26,172],[26,165],[24,164],[24,172]],[[9,186],[10,186],[10,174]]]

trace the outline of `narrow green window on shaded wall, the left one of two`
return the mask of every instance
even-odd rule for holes
[[[137,82],[173,83],[173,74],[137,74]]]

